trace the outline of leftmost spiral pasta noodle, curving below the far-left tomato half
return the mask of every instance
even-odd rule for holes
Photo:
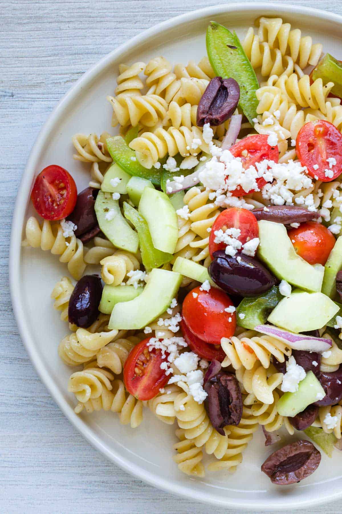
[[[47,219],[40,227],[34,216],[27,220],[25,232],[26,240],[23,241],[23,246],[50,250],[53,255],[59,255],[59,262],[68,264],[68,270],[75,280],[82,277],[86,268],[83,244],[74,234],[71,237],[64,237],[61,224],[51,224]]]

